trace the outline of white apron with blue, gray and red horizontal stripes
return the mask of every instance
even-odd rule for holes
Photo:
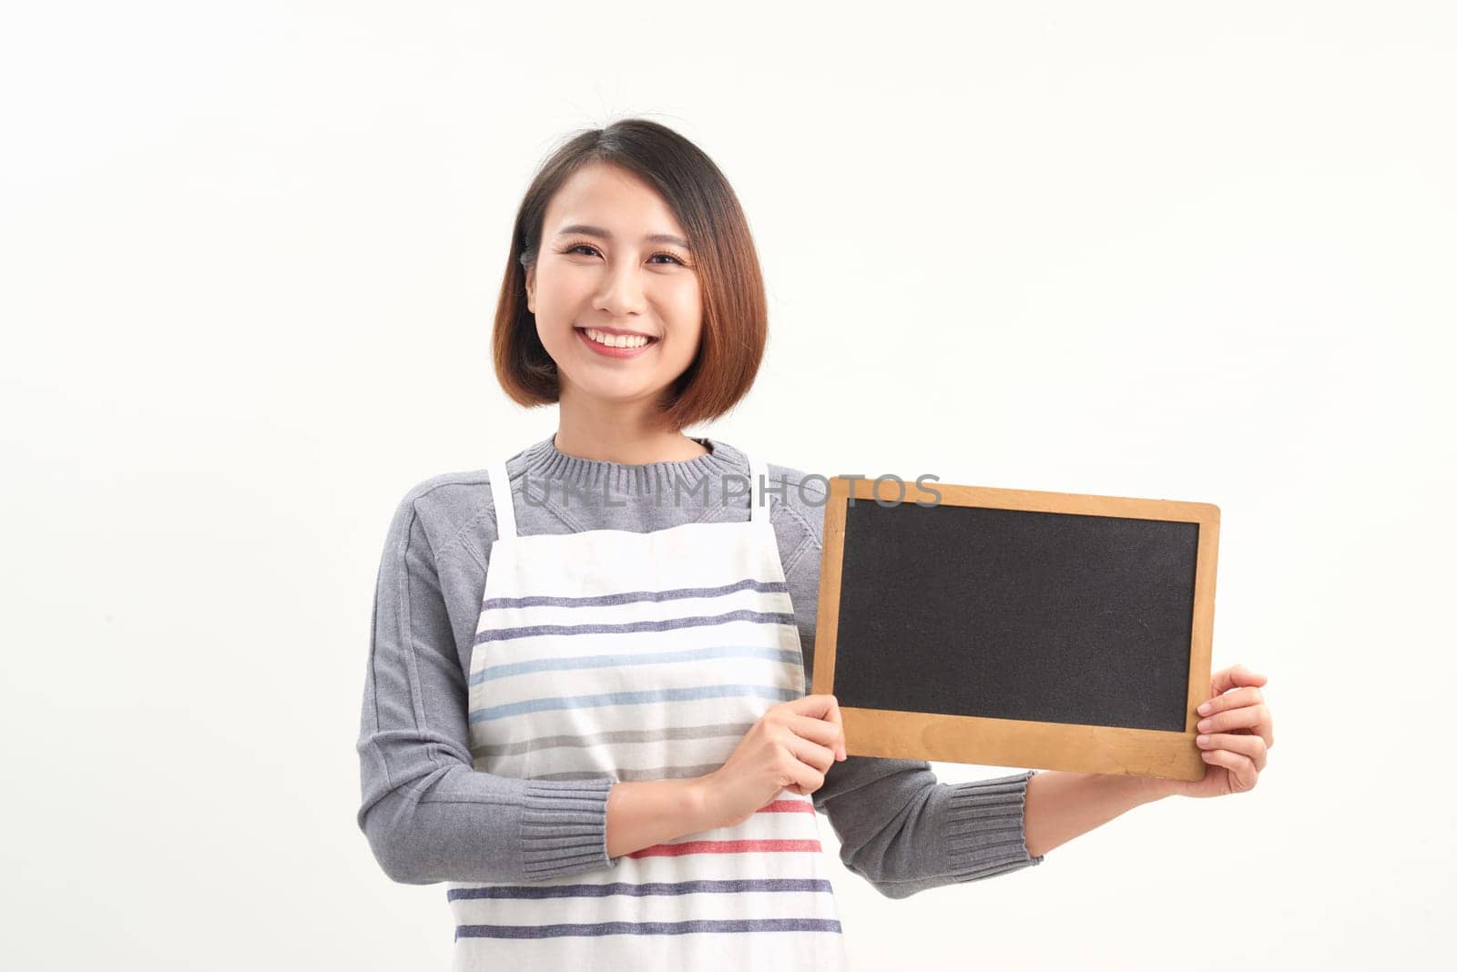
[[[717,770],[804,668],[750,457],[750,518],[656,533],[516,534],[491,469],[491,546],[469,675],[475,768],[535,780]],[[457,972],[848,968],[813,800],[532,883],[452,882]]]

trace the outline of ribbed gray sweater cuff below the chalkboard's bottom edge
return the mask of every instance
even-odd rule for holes
[[[949,786],[943,847],[956,880],[979,880],[1042,863],[1042,854],[1027,854],[1024,832],[1027,780],[1036,774],[1027,770]]]

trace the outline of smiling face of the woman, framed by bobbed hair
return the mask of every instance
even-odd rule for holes
[[[552,196],[526,294],[564,406],[651,403],[698,352],[702,295],[688,234],[618,166],[583,166]]]

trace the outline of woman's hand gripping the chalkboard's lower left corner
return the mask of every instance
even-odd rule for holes
[[[845,728],[833,696],[804,696],[772,706],[728,760],[698,777],[705,813],[717,826],[745,822],[782,790],[809,796],[845,758]]]

